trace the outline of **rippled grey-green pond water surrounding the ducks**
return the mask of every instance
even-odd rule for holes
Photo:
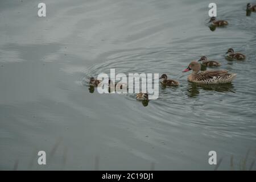
[[[246,16],[247,2],[218,1],[229,26],[215,31],[199,0],[46,0],[46,18],[39,2],[0,2],[1,169],[213,170],[212,150],[218,169],[255,169],[256,14]],[[230,47],[246,61],[225,60]],[[236,80],[187,82],[181,71],[203,55]],[[159,86],[146,107],[135,94],[90,93],[88,78],[110,68],[166,73],[180,86]]]

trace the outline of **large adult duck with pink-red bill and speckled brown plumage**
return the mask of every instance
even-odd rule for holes
[[[200,72],[200,69],[201,64],[197,61],[192,61],[183,72],[192,70],[193,72],[188,76],[188,81],[197,84],[228,84],[232,82],[237,75],[236,73],[229,73],[225,70]]]

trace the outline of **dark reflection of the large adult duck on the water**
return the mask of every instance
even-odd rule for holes
[[[209,91],[216,91],[216,92],[232,92],[236,93],[234,86],[232,83],[229,84],[213,84],[213,85],[202,85],[189,82],[188,89],[187,89],[187,96],[188,97],[197,97],[200,93],[200,89],[209,90]]]

